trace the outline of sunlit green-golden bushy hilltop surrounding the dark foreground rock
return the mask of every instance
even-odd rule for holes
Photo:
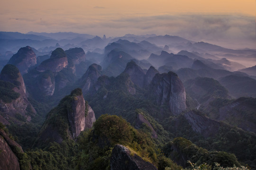
[[[78,138],[77,169],[110,169],[110,156],[115,144],[127,146],[131,155],[137,154],[164,170],[165,165],[179,167],[160,152],[150,136],[134,129],[125,119],[116,115],[101,115],[93,129],[82,132]]]

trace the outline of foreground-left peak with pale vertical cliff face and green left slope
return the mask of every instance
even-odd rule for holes
[[[77,88],[48,113],[36,145],[62,143],[65,139],[74,139],[85,128],[91,128],[94,121],[93,110],[84,101],[82,90]]]

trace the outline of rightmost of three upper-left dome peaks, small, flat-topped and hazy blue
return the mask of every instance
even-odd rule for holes
[[[85,52],[82,48],[69,49],[66,50],[65,53],[67,54],[67,57],[72,60],[74,65],[86,60]]]

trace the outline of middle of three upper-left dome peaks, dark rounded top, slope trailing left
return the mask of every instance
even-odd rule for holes
[[[37,71],[44,72],[51,70],[59,72],[68,66],[68,59],[62,48],[57,48],[52,52],[50,59],[44,60],[38,67]]]

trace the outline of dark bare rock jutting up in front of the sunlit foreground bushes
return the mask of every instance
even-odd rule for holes
[[[131,155],[128,148],[117,144],[112,150],[110,170],[157,170],[156,167],[144,161],[137,154]]]

